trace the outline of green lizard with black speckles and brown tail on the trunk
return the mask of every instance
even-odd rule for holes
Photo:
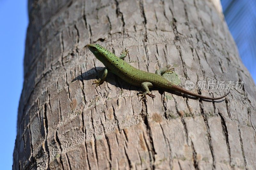
[[[128,54],[127,50],[124,50],[121,53],[121,56],[117,57],[115,54],[111,53],[110,51],[100,46],[99,44],[96,44],[96,45],[88,44],[87,46],[90,49],[90,51],[95,55],[95,57],[98,60],[100,60],[105,66],[105,70],[102,77],[98,80],[93,81],[92,83],[92,84],[96,84],[96,87],[102,84],[106,80],[108,71],[110,71],[113,74],[116,74],[118,77],[120,77],[124,81],[134,86],[142,87],[144,92],[141,92],[142,94],[138,95],[138,96],[141,96],[141,99],[142,98],[147,99],[147,95],[154,98],[155,95],[151,94],[151,92],[149,91],[149,88],[153,88],[153,87],[161,88],[161,89],[171,89],[171,90],[179,91],[181,93],[184,93],[190,96],[199,97],[199,98],[208,99],[208,100],[218,100],[229,94],[228,92],[228,94],[221,97],[216,97],[216,98],[198,95],[186,89],[180,88],[179,86],[173,84],[172,82],[166,80],[163,76],[161,76],[161,74],[163,73],[166,73],[166,72],[172,73],[174,71],[174,68],[170,68],[170,66],[167,66],[162,69],[157,69],[156,74],[149,73],[146,71],[139,70],[135,67],[132,67],[130,64],[128,64],[123,60]]]

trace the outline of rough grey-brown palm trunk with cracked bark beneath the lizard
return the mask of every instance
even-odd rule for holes
[[[13,169],[256,169],[256,88],[211,0],[29,0]],[[134,67],[244,81],[222,102],[154,90],[140,102],[113,74],[94,89],[98,43]],[[220,96],[223,90],[194,90]],[[168,96],[168,97],[167,97]],[[171,97],[170,97],[171,96]]]

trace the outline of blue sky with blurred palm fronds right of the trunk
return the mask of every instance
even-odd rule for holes
[[[221,0],[240,57],[256,82],[256,1]]]

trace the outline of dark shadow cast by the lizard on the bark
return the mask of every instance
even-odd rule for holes
[[[90,70],[82,73],[82,75],[79,75],[77,77],[75,77],[71,82],[79,80],[79,81],[83,81],[83,80],[96,80],[99,79],[104,71],[105,67],[95,67],[95,68],[91,68]],[[127,82],[125,82],[124,80],[122,80],[121,78],[119,78],[118,76],[116,76],[115,74],[108,72],[107,78],[106,78],[107,83],[112,84],[113,86],[119,87],[120,89],[126,89],[126,90],[136,90],[136,91],[141,91],[142,88],[141,87],[136,87],[133,86]],[[159,93],[162,95],[164,94],[164,92],[168,92],[177,96],[182,96],[183,98],[187,97],[189,99],[193,99],[193,100],[199,100],[199,101],[205,101],[205,102],[214,102],[214,103],[220,103],[225,101],[225,99],[223,100],[208,100],[208,99],[201,99],[198,97],[194,97],[194,96],[189,96],[187,94],[175,91],[175,90],[169,90],[169,89],[157,89],[157,88],[152,88],[151,90],[158,90]]]

